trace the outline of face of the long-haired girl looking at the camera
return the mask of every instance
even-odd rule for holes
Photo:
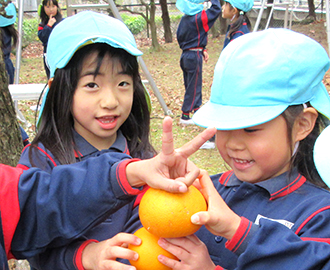
[[[119,61],[105,55],[97,70],[97,53],[86,57],[73,95],[75,130],[97,149],[109,148],[129,116],[133,103],[133,79]]]

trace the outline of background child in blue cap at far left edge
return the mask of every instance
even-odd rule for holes
[[[10,59],[12,47],[16,46],[18,40],[18,34],[14,27],[16,21],[16,7],[13,3],[9,3],[5,8],[6,17],[0,16],[0,29],[2,36],[2,53],[4,62],[6,65],[6,71],[8,74],[9,84],[14,83],[15,68],[13,62]]]

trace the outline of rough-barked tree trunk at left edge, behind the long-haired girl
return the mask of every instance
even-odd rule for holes
[[[0,34],[0,47],[1,40]],[[8,89],[8,77],[2,53],[0,53],[0,134],[0,163],[16,166],[23,142]]]

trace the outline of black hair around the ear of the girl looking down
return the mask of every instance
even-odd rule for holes
[[[307,103],[310,107],[310,104]],[[292,144],[292,129],[295,120],[303,112],[303,105],[289,106],[283,113],[287,128],[288,128],[288,140]],[[323,182],[322,178],[317,172],[313,159],[313,148],[317,137],[320,135],[322,130],[329,125],[329,120],[319,113],[314,129],[312,132],[303,140],[300,141],[299,147],[295,154],[291,158],[291,169],[296,167],[300,174],[306,177],[308,182],[311,182],[319,187],[328,189],[328,186]]]

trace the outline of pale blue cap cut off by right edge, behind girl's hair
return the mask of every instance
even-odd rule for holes
[[[314,163],[324,183],[330,187],[330,126],[317,137],[314,145]]]

